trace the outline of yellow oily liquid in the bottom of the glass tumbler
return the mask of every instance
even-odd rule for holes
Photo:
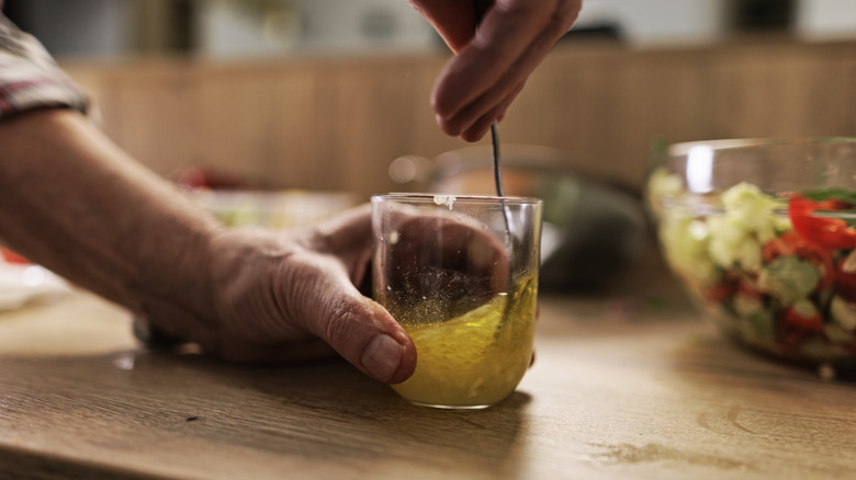
[[[530,276],[450,319],[440,300],[392,308],[417,355],[414,375],[393,389],[414,403],[444,408],[484,408],[508,397],[530,364],[537,292]]]

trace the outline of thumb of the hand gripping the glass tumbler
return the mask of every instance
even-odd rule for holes
[[[335,259],[323,258],[299,283],[291,298],[300,311],[293,318],[324,340],[365,375],[398,384],[416,368],[416,346],[380,304],[364,297]],[[311,272],[311,273],[309,273]]]

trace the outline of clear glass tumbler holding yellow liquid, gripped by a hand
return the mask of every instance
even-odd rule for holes
[[[532,355],[541,210],[528,197],[372,197],[373,297],[416,345],[401,397],[482,409],[517,388]]]

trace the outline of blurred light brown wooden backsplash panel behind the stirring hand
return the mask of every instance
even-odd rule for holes
[[[288,187],[404,190],[403,155],[468,146],[436,126],[442,55],[268,62],[140,60],[67,65],[104,128],[157,172],[207,163]],[[656,140],[853,135],[856,44],[766,42],[635,52],[556,48],[500,124],[506,144],[641,185]],[[483,141],[485,144],[486,141]]]

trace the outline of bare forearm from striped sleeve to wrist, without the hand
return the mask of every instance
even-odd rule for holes
[[[77,112],[0,123],[0,238],[85,288],[135,311],[204,309],[219,228]]]

